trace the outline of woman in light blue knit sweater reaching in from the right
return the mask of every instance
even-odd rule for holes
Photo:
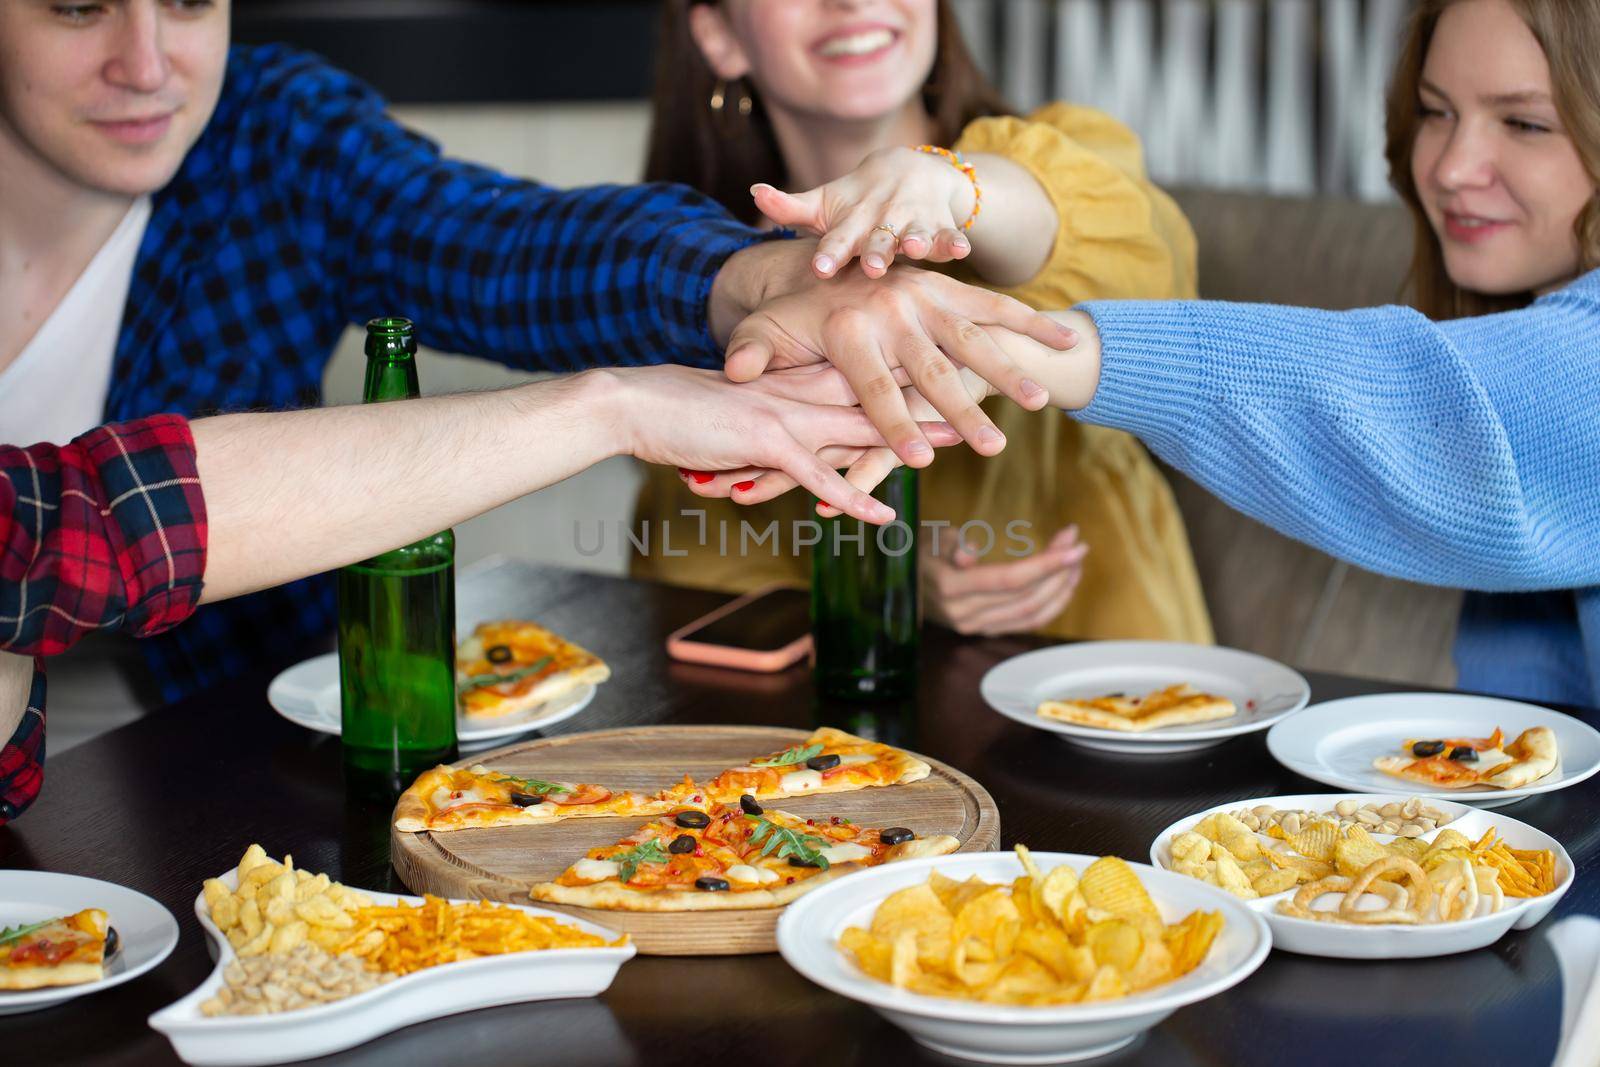
[[[1238,510],[1475,590],[1462,688],[1600,705],[1600,8],[1424,0],[1387,126],[1416,310],[1091,302],[1074,352],[1003,347]]]

